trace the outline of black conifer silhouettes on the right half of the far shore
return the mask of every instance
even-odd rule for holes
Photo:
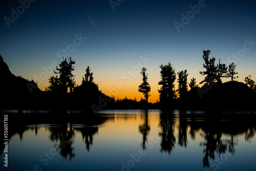
[[[236,65],[231,63],[228,67],[224,63],[221,63],[221,59],[219,62],[215,63],[215,57],[209,57],[210,50],[203,51],[203,68],[205,71],[200,71],[201,75],[204,75],[204,80],[202,80],[199,84],[204,83],[205,86],[209,86],[210,83],[222,83],[221,78],[230,78],[230,81],[236,81],[235,79],[238,78],[236,76],[238,72],[236,72]],[[176,72],[173,68],[172,63],[168,63],[168,65],[161,65],[160,66],[160,74],[161,80],[158,82],[161,85],[161,89],[158,90],[159,92],[159,99],[160,102],[168,102],[172,99],[177,97],[183,98],[186,92],[188,91],[188,86],[190,90],[198,89],[199,86],[196,84],[196,78],[192,78],[187,86],[187,70],[177,72],[178,75],[178,89],[175,90],[175,80],[176,80]],[[143,93],[145,100],[148,100],[150,96],[151,87],[150,84],[147,82],[147,74],[145,73],[146,69],[143,68],[141,70],[142,74],[142,83],[139,86],[138,91]],[[245,77],[245,83],[254,91],[256,92],[256,84],[255,81],[251,79],[251,75]]]

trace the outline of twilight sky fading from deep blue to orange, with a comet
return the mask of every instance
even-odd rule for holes
[[[234,62],[238,81],[256,80],[255,9],[248,0],[4,0],[0,55],[14,75],[33,79],[43,91],[62,57],[72,57],[76,84],[90,66],[102,93],[137,100],[145,67],[148,101],[156,102],[159,66],[171,62],[176,73],[186,69],[188,82],[199,83],[203,50],[227,66]]]

